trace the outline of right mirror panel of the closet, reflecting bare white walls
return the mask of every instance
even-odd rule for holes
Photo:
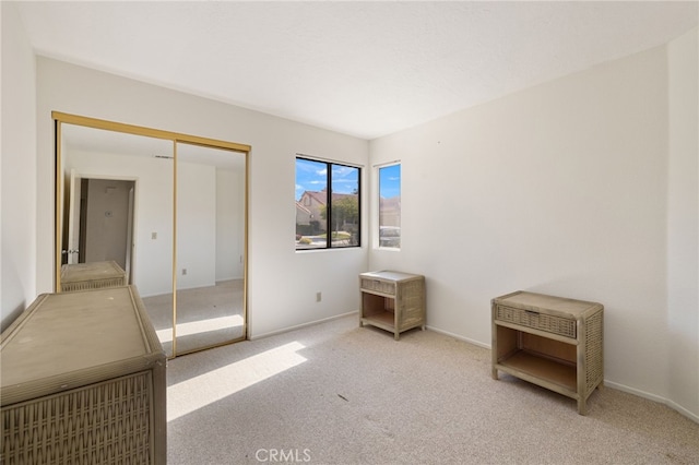
[[[176,351],[245,337],[246,154],[178,143]]]

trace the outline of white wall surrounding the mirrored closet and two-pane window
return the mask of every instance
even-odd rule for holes
[[[52,289],[51,110],[252,146],[250,154],[250,334],[259,337],[358,308],[367,248],[296,253],[296,153],[365,165],[367,141],[134,80],[37,58],[37,288]],[[365,208],[368,203],[365,201]],[[365,222],[366,224],[366,222]],[[366,226],[365,226],[366,228]],[[316,293],[323,300],[316,302]]]

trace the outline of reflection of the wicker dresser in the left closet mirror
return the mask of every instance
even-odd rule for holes
[[[61,290],[99,289],[127,285],[127,273],[115,261],[61,266]]]

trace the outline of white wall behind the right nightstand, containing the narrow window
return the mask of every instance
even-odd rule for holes
[[[372,141],[372,164],[402,160],[403,195],[402,249],[372,251],[370,267],[425,274],[428,325],[483,346],[493,297],[600,301],[607,383],[666,400],[678,381],[668,372],[667,90],[660,47]],[[696,266],[696,249],[690,257],[683,266]],[[696,356],[691,337],[684,349]]]

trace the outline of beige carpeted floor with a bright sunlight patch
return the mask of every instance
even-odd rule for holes
[[[699,425],[604,388],[576,402],[490,351],[345,317],[168,363],[169,464],[699,464]]]

